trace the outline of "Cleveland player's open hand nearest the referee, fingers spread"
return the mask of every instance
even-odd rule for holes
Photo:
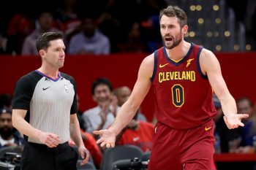
[[[97,144],[101,143],[100,146],[104,147],[115,147],[115,142],[116,142],[116,135],[113,134],[108,129],[105,130],[100,130],[100,131],[94,131],[94,134],[100,135],[99,140],[97,140]]]

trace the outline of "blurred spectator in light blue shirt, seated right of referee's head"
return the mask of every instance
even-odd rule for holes
[[[85,17],[80,33],[70,39],[68,53],[107,55],[110,53],[110,40],[97,29],[93,18]]]

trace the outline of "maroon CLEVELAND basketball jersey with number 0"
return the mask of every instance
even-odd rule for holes
[[[202,125],[216,115],[212,89],[200,69],[203,47],[191,44],[181,61],[168,58],[165,47],[154,52],[155,115],[160,123],[176,129]]]

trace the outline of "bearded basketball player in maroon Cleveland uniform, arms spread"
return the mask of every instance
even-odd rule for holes
[[[223,80],[219,61],[211,51],[184,40],[187,15],[169,6],[159,15],[164,47],[148,55],[140,65],[138,80],[128,101],[121,107],[108,130],[95,131],[101,146],[114,147],[116,135],[135,115],[154,86],[154,144],[149,170],[211,170],[214,154],[216,115],[212,93],[217,94],[228,128],[238,128],[241,119],[236,101]]]

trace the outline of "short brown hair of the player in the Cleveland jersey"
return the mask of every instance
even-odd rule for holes
[[[168,6],[165,9],[160,11],[159,20],[161,20],[162,15],[166,15],[167,17],[176,17],[178,18],[178,23],[181,27],[187,25],[187,14],[181,8],[177,6]]]

